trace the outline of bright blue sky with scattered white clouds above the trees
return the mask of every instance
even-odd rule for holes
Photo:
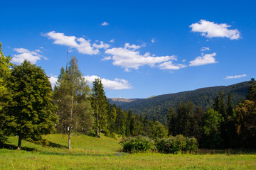
[[[107,97],[147,98],[255,77],[255,1],[2,1],[0,42],[54,83],[67,51]]]

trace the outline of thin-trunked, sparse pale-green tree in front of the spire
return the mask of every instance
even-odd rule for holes
[[[54,99],[58,105],[60,118],[59,130],[68,130],[69,149],[73,132],[88,134],[92,131],[94,119],[90,95],[90,87],[78,69],[78,60],[72,57],[68,70],[60,70],[54,89]]]

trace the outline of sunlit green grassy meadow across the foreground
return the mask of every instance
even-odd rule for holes
[[[47,135],[48,146],[22,142],[18,137],[0,149],[0,169],[256,169],[256,155],[247,154],[127,154],[119,152],[119,140],[73,136],[68,150],[67,135]]]

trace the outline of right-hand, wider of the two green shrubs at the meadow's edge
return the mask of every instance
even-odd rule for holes
[[[183,135],[170,136],[156,140],[156,149],[166,154],[177,154],[178,152],[191,152],[198,149],[195,138],[183,137]]]

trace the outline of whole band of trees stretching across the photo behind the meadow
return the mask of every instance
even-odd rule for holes
[[[90,89],[75,57],[60,69],[54,89],[44,70],[26,60],[21,65],[11,64],[11,57],[1,52],[0,69],[0,142],[6,142],[8,136],[18,136],[18,149],[22,140],[43,144],[43,135],[50,133],[68,135],[69,149],[74,134],[145,136],[153,140],[183,136],[194,137],[200,148],[256,147],[253,78],[246,98],[235,104],[233,95],[225,94],[227,91],[220,91],[208,106],[200,105],[203,97],[198,98],[201,102],[193,103],[183,96],[186,100],[176,102],[175,106],[166,104],[166,115],[161,115],[150,109],[134,114],[110,104],[102,81],[95,79]]]

